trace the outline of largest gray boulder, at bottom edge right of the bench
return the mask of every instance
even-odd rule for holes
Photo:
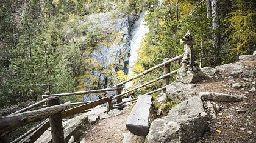
[[[208,130],[207,121],[198,116],[165,116],[155,119],[146,136],[147,143],[197,142]]]

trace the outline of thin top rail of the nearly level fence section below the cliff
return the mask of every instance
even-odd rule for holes
[[[70,95],[84,95],[84,94],[90,94],[90,93],[101,93],[101,92],[107,92],[107,91],[116,91],[118,89],[122,89],[123,87],[113,87],[113,88],[106,88],[106,89],[100,89],[100,90],[89,90],[89,91],[79,91],[79,92],[73,92],[73,93],[59,93],[59,94],[52,94],[52,95],[42,95],[43,98],[48,98],[50,96],[70,96]]]

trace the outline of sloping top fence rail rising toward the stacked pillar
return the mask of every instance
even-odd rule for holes
[[[123,85],[123,84],[126,84],[126,83],[129,82],[129,81],[132,81],[133,79],[140,78],[140,76],[146,75],[147,73],[149,73],[149,72],[151,72],[151,71],[153,71],[153,70],[155,70],[155,69],[157,69],[157,68],[163,67],[163,66],[166,65],[166,64],[169,64],[169,63],[171,63],[171,62],[177,61],[178,59],[182,59],[182,58],[183,58],[183,54],[182,54],[182,55],[179,55],[179,56],[176,56],[176,57],[174,57],[174,58],[172,58],[172,59],[169,59],[168,61],[162,62],[161,64],[155,65],[154,67],[149,68],[148,70],[145,70],[145,71],[143,71],[142,73],[139,73],[138,75],[133,76],[132,78],[127,79],[126,81],[123,81],[123,82],[121,82],[121,83],[119,83],[119,84],[116,84],[116,85],[114,85],[113,87],[119,87],[119,86],[121,86],[121,85]]]

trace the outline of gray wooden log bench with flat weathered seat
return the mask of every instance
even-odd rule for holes
[[[129,115],[126,128],[137,136],[146,136],[149,132],[149,111],[152,105],[151,95],[139,95]]]

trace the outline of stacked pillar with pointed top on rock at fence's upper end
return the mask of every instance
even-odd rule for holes
[[[194,62],[194,41],[190,30],[180,40],[180,44],[184,44],[184,55],[182,58],[182,69],[177,72],[176,79],[183,83],[197,82],[199,81],[199,76],[197,75],[197,68]]]

